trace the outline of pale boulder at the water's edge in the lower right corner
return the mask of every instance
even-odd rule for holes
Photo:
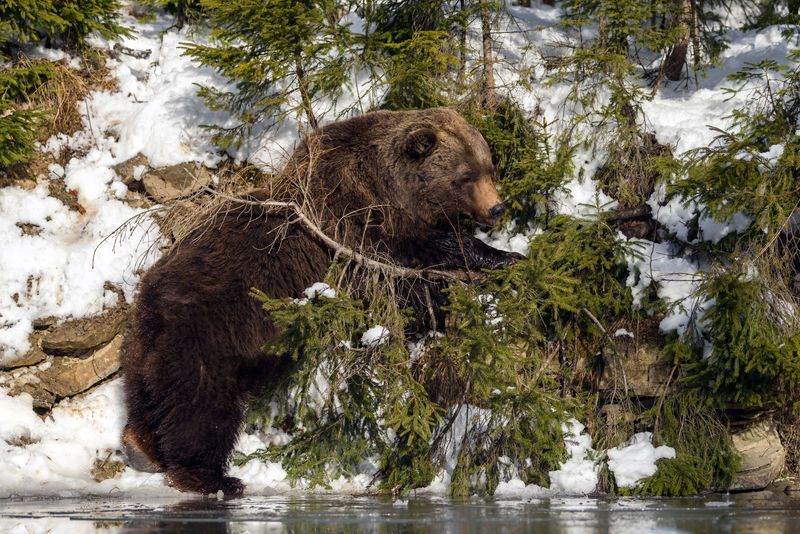
[[[784,468],[786,451],[775,423],[764,419],[733,435],[733,445],[742,456],[742,465],[730,489],[760,490],[770,485]]]

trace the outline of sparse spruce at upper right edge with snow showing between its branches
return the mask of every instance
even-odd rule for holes
[[[730,128],[719,130],[711,146],[688,155],[670,185],[673,196],[701,206],[701,216],[720,222],[737,213],[751,218],[740,249],[771,240],[797,207],[800,51],[787,59],[793,67],[766,59],[730,76],[738,86],[729,91],[747,94],[744,106],[727,117]]]

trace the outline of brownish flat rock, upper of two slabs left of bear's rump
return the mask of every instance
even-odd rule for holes
[[[98,317],[67,321],[53,328],[42,339],[48,354],[77,354],[106,343],[117,335],[128,318],[125,307]]]

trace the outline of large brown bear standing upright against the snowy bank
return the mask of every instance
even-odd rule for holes
[[[408,268],[493,269],[520,256],[458,230],[504,211],[481,134],[450,109],[367,113],[321,127],[282,171],[283,190],[330,238]],[[142,277],[123,353],[129,463],[182,491],[240,495],[226,476],[248,395],[285,359],[256,287],[297,297],[323,279],[330,243],[258,190],[230,201]],[[434,288],[438,289],[438,288]],[[438,293],[441,300],[441,293]],[[412,299],[400,296],[404,304]]]

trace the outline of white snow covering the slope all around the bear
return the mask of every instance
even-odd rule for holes
[[[551,26],[558,19],[558,10],[547,6],[532,9],[513,8],[523,27],[546,27],[526,32],[539,46],[547,46],[557,30]],[[122,239],[103,241],[117,227],[141,210],[121,202],[126,186],[112,166],[137,153],[144,154],[151,165],[173,165],[197,161],[208,166],[220,162],[223,154],[215,147],[202,124],[222,123],[226,116],[209,111],[196,95],[197,83],[224,86],[224,81],[208,69],[199,68],[182,56],[180,43],[196,36],[187,30],[170,29],[172,21],[159,17],[140,23],[132,17],[127,25],[137,35],[124,40],[133,49],[150,49],[147,59],[120,55],[108,61],[112,75],[119,81],[114,92],[93,93],[81,105],[84,130],[72,137],[53,137],[44,149],[59,153],[66,146],[80,148],[85,155],[73,158],[61,167],[52,165],[50,179],[63,180],[67,189],[77,192],[77,199],[86,207],[85,214],[68,210],[48,195],[44,180],[32,189],[18,187],[0,189],[0,360],[11,358],[28,349],[28,335],[37,318],[85,317],[98,314],[116,304],[117,294],[107,283],[119,288],[130,301],[138,280],[137,270],[147,267],[156,258],[144,254],[160,236],[148,225],[138,225]],[[788,44],[779,29],[739,32],[727,35],[730,45],[722,64],[701,79],[700,87],[662,89],[645,111],[658,140],[672,145],[677,152],[707,146],[714,137],[707,126],[723,126],[723,117],[740,102],[727,99],[723,88],[725,76],[735,72],[745,61],[773,58],[784,61]],[[516,57],[520,50],[520,34],[501,36],[503,53],[510,61],[533,61]],[[111,47],[102,40],[95,45]],[[515,51],[509,52],[509,51]],[[42,56],[57,55],[40,50]],[[511,54],[511,55],[509,55]],[[498,76],[509,75],[498,69]],[[536,87],[533,92],[517,93],[521,103],[533,109],[540,105],[549,119],[557,116],[564,87]],[[283,155],[291,152],[296,136],[290,127],[264,134],[238,149],[239,160],[279,165]],[[587,170],[596,162],[587,161]],[[585,210],[584,203],[595,202],[598,193],[591,180],[569,184],[569,194],[560,198],[560,209],[567,213]],[[657,192],[656,195],[659,193]],[[610,199],[608,199],[610,200]],[[653,201],[657,201],[654,198]],[[659,221],[680,233],[685,228],[687,210],[677,203],[656,210]],[[25,235],[21,224],[35,224],[38,235]],[[713,239],[732,227],[707,225],[706,238]],[[512,239],[493,238],[508,248],[524,250],[519,236]],[[644,241],[643,260],[632,260],[643,276],[635,290],[643,289],[650,280],[660,282],[659,296],[673,301],[687,296],[698,266],[674,258],[666,245]],[[631,277],[630,284],[636,280]],[[680,313],[665,319],[662,328],[680,327],[685,319]],[[172,494],[162,475],[126,470],[120,478],[97,483],[91,470],[119,447],[124,424],[119,380],[105,384],[84,398],[62,402],[51,416],[37,416],[27,395],[10,397],[0,389],[0,497],[13,495],[84,495],[134,493],[146,495]],[[458,425],[454,425],[458,427]],[[594,463],[599,453],[591,449],[591,440],[577,421],[570,423],[566,439],[570,458],[561,469],[551,474],[553,488],[525,487],[519,480],[501,484],[499,498],[524,498],[554,493],[582,494],[597,483]],[[242,435],[239,449],[250,452],[263,447],[270,436]],[[613,454],[613,455],[612,455]],[[667,457],[668,448],[655,449],[650,436],[638,434],[631,442],[608,451],[612,466],[621,479],[635,483],[637,477],[655,470],[655,460]],[[248,492],[254,494],[288,491],[285,473],[277,464],[251,462],[233,468],[232,474],[244,479]],[[448,473],[443,473],[430,488],[442,493]],[[353,492],[364,489],[371,479],[370,466],[354,480],[342,481],[334,491]]]

